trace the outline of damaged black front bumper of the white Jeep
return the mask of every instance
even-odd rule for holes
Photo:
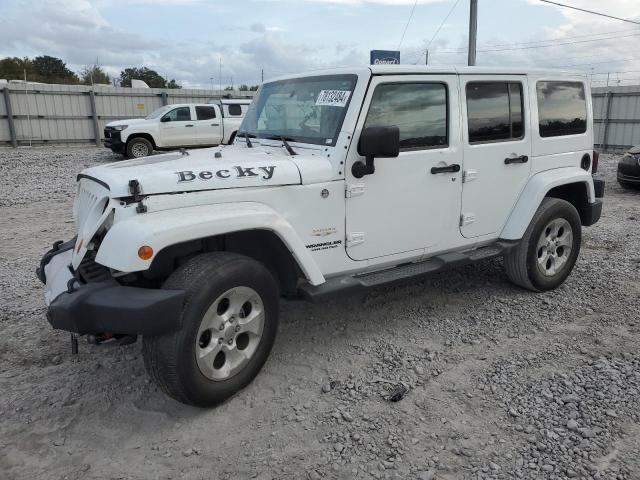
[[[127,287],[114,278],[81,283],[71,253],[54,247],[38,269],[53,328],[80,335],[160,335],[180,328],[184,291]]]

